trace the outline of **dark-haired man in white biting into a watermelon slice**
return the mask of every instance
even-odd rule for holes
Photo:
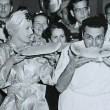
[[[83,21],[82,27],[83,41],[74,45],[101,49],[105,40],[106,22],[100,17],[91,17]],[[56,73],[60,76],[56,88],[62,92],[59,110],[110,110],[110,60],[78,57],[71,47],[66,54],[69,57],[65,57],[66,61],[62,58],[63,70],[57,67],[62,74]],[[64,62],[68,62],[65,68]]]

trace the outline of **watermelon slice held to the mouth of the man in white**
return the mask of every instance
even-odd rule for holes
[[[104,45],[102,48],[90,47],[86,48],[84,44],[71,44],[71,50],[75,55],[86,58],[110,57],[110,45]]]

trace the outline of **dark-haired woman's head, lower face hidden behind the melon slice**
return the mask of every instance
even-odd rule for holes
[[[70,31],[61,22],[51,23],[43,34],[47,42],[70,42]]]

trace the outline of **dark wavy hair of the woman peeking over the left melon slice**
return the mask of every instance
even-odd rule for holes
[[[42,36],[43,38],[46,39],[47,42],[49,42],[49,39],[51,39],[52,30],[55,28],[63,29],[65,37],[66,37],[66,41],[67,42],[70,41],[70,31],[66,28],[66,26],[63,23],[55,22],[55,23],[50,24],[50,26],[43,32]]]

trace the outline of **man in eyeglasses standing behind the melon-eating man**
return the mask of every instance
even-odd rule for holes
[[[71,25],[71,33],[73,33],[73,40],[75,41],[82,40],[79,35],[79,29],[82,25],[82,21],[89,17],[90,7],[88,0],[71,0],[73,6],[73,16],[76,19],[76,23]]]

